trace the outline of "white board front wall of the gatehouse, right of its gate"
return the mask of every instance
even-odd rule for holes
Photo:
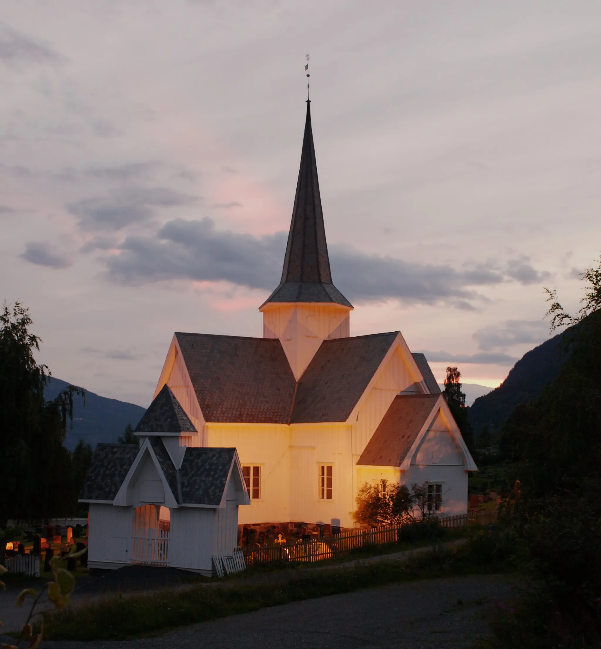
[[[215,509],[172,509],[169,565],[211,572]]]

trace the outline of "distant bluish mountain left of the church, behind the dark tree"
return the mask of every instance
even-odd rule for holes
[[[52,376],[45,387],[44,397],[51,400],[70,385]],[[144,408],[135,404],[99,397],[88,390],[85,392],[85,407],[83,398],[73,398],[73,428],[67,427],[65,440],[65,446],[70,450],[80,439],[91,444],[92,448],[96,448],[98,442],[116,442],[125,426],[131,424],[135,428],[145,412]]]

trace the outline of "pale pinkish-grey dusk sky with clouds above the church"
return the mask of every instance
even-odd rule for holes
[[[595,1],[3,0],[0,299],[51,372],[147,406],[175,331],[262,335],[305,55],[351,335],[497,386],[601,249]]]

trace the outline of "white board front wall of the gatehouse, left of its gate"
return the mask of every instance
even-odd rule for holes
[[[131,507],[90,503],[88,561],[131,563]]]

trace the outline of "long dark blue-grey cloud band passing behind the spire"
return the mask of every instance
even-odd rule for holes
[[[255,237],[217,230],[208,217],[175,219],[155,237],[128,236],[120,245],[121,253],[107,258],[107,270],[109,278],[120,284],[224,280],[271,290],[279,281],[286,240],[285,232]],[[474,287],[508,280],[492,263],[457,270],[448,264],[405,262],[336,246],[331,247],[330,260],[336,286],[358,302],[449,301],[459,309],[474,310],[468,300],[482,299]]]

